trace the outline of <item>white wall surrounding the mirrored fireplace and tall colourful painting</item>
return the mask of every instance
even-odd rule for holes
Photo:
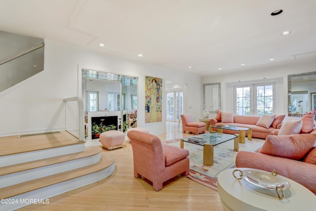
[[[185,111],[196,120],[201,114],[200,76],[45,40],[44,71],[0,92],[0,136],[64,129],[63,99],[81,96],[81,68],[139,77],[138,127],[146,127],[153,134],[165,132],[165,110],[162,122],[145,124],[145,76],[186,84]]]

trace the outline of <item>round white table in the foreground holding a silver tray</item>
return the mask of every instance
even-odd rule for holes
[[[237,168],[240,170],[249,168]],[[315,211],[316,196],[303,185],[285,178],[291,187],[279,200],[276,191],[257,187],[233,176],[235,169],[226,169],[217,177],[217,190],[227,211]],[[235,172],[238,176],[238,172]],[[280,176],[280,175],[278,175]],[[313,178],[311,178],[313,179]]]

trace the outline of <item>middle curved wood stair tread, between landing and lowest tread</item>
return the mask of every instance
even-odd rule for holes
[[[102,151],[101,147],[85,147],[85,151],[83,152],[77,152],[77,153],[72,153],[72,154],[67,154],[67,155],[62,155],[62,156],[57,156],[57,157],[52,157],[52,158],[46,158],[46,159],[37,160],[37,161],[31,161],[31,162],[22,163],[22,164],[16,164],[12,166],[1,167],[0,176],[10,174],[10,173],[20,172],[23,170],[36,169],[36,168],[40,168],[44,166],[49,166],[53,164],[85,158],[85,157],[96,155],[100,153],[101,151]]]

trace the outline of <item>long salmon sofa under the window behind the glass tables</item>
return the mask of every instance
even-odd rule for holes
[[[216,125],[228,125],[228,126],[237,126],[237,127],[251,127],[252,128],[252,137],[255,138],[266,138],[271,134],[274,130],[276,130],[277,126],[282,123],[285,115],[275,115],[275,118],[272,124],[268,127],[258,126],[257,123],[261,117],[258,116],[239,116],[233,115],[229,112],[222,112],[218,110],[216,118],[210,119],[210,126]],[[223,117],[224,116],[224,120]],[[229,116],[229,118],[226,118]],[[216,130],[214,128],[214,130]],[[223,129],[223,133],[236,133],[235,130]],[[248,132],[246,131],[246,136],[248,136]]]

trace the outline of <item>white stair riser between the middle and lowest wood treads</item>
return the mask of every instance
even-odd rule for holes
[[[40,167],[36,169],[28,169],[28,170],[24,170],[24,171],[20,171],[16,173],[2,175],[0,176],[0,181],[1,181],[0,188],[30,181],[33,179],[38,179],[45,176],[50,176],[50,175],[61,173],[64,171],[69,171],[69,170],[78,169],[81,167],[90,166],[99,162],[100,158],[101,158],[101,154],[98,153],[96,155],[80,158],[77,160],[72,160],[72,161],[44,166],[44,167]]]

